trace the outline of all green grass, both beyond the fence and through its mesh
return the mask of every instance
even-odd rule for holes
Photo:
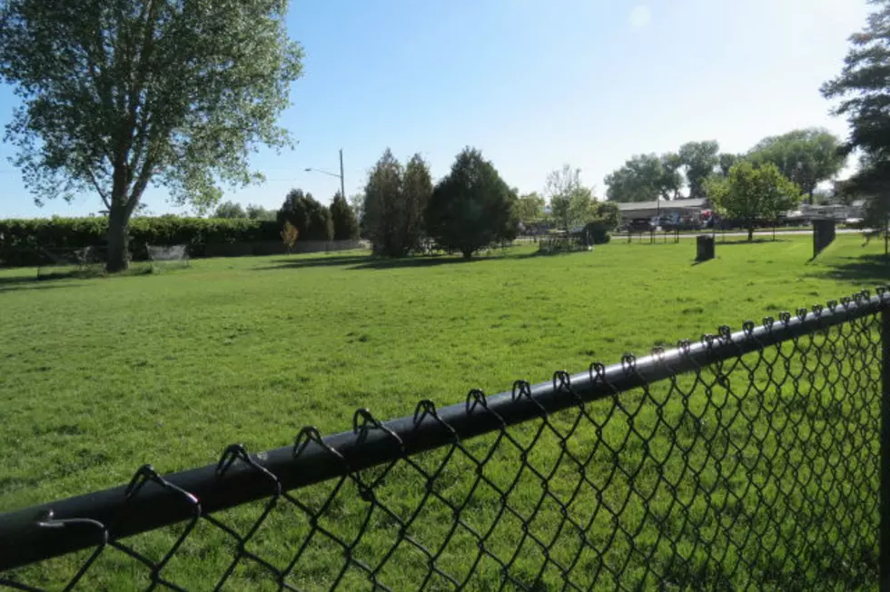
[[[858,236],[838,235],[836,243],[814,261],[810,261],[808,236],[753,244],[718,243],[718,259],[699,265],[692,264],[692,241],[649,245],[618,239],[595,252],[536,257],[533,247],[523,247],[506,256],[470,262],[439,258],[393,263],[362,253],[341,253],[193,261],[193,267],[183,271],[98,279],[34,281],[34,270],[0,271],[4,311],[0,410],[5,419],[0,449],[10,452],[0,472],[0,511],[119,485],[146,462],[161,472],[172,472],[215,462],[232,442],[259,451],[291,444],[304,425],[318,426],[322,433],[348,429],[354,409],[360,407],[385,419],[410,414],[420,399],[446,405],[462,402],[472,388],[496,392],[509,389],[517,379],[549,380],[554,370],[582,370],[593,360],[616,361],[627,351],[646,353],[654,346],[716,332],[722,324],[738,329],[746,319],[777,316],[779,311],[794,311],[890,279],[880,255],[883,244],[873,242],[862,248],[860,243]],[[798,390],[789,388],[787,383],[780,385],[776,400],[799,407]],[[638,425],[664,430],[655,412],[658,405],[664,406],[668,416],[673,413],[683,419],[689,415],[688,405],[701,402],[684,407],[685,397],[674,391],[668,400],[669,394],[666,387],[628,396],[630,403],[648,402]],[[821,412],[823,404],[816,407]],[[694,415],[705,418],[713,412],[706,405]],[[794,411],[798,412],[803,411]],[[616,411],[603,407],[596,413],[604,419]],[[612,440],[618,446],[627,439],[628,418],[622,413],[626,411],[618,411],[619,418],[609,422],[612,427],[603,432],[603,441]],[[565,432],[571,418],[554,419],[554,425]],[[732,429],[727,434],[737,436]],[[535,432],[528,427],[516,433],[519,439],[530,441]],[[653,434],[657,442],[671,437]],[[597,441],[594,435],[589,426],[579,429],[571,445],[589,448]],[[700,444],[700,438],[697,428],[687,434],[690,443]],[[701,459],[713,460],[710,439],[707,442]],[[774,451],[788,445],[768,439],[759,444],[746,442]],[[491,438],[474,440],[470,450],[481,457],[492,443]],[[747,453],[747,445],[739,454]],[[533,458],[542,466],[553,466],[553,459],[559,458],[559,439],[545,435],[533,450]],[[643,450],[639,439],[628,443],[623,453],[630,464],[649,459],[640,483],[658,472]],[[608,455],[598,454],[591,471],[606,479],[614,463]],[[504,447],[496,456],[504,467],[512,459],[513,472],[498,469],[494,461],[490,465],[492,479],[506,488],[518,456]],[[453,496],[455,504],[466,495],[472,482],[467,476],[473,469],[469,461],[458,457],[440,479],[442,495]],[[433,468],[439,458],[427,455],[423,462]],[[667,459],[665,466],[676,462],[676,457]],[[410,473],[403,464],[394,470],[395,476]],[[726,481],[727,490],[742,487],[729,484],[738,476],[727,470],[712,467],[697,480]],[[573,477],[571,465],[563,463],[554,466],[554,471],[552,487],[566,493],[572,479],[577,480],[577,470]],[[407,477],[389,479],[401,487],[381,490],[386,496],[381,501],[407,516],[423,498],[424,483]],[[523,479],[529,479],[528,475]],[[620,497],[628,491],[629,484],[620,481],[609,488],[608,495]],[[681,553],[684,557],[692,557],[684,573],[677,575],[681,584],[738,585],[732,579],[738,574],[733,575],[730,559],[715,571],[707,556],[701,555],[704,551],[696,537],[705,537],[702,533],[710,528],[709,540],[716,540],[722,523],[720,518],[713,522],[714,494],[701,496],[694,481],[690,482],[691,489],[688,484],[677,486],[676,495],[687,499],[693,516],[711,517],[710,526],[703,522],[693,537],[678,518],[683,514],[668,504],[670,496],[656,479],[649,483],[651,508],[662,513],[659,519],[668,525],[665,528],[675,528],[677,547],[663,550],[666,543],[651,530],[653,518],[644,511],[649,502],[638,498],[638,505],[622,514],[621,520],[647,522],[647,529],[640,530],[638,537],[615,542],[608,557],[580,557],[573,573],[583,572],[578,577],[587,581],[585,577],[601,577],[596,576],[598,570],[618,569],[627,559],[625,581],[651,585],[654,580],[647,558],[680,548],[688,551]],[[356,492],[350,491],[352,486],[344,487],[329,508],[331,518],[336,518],[329,528],[351,539],[365,510]],[[778,487],[783,487],[781,479]],[[302,499],[321,508],[329,489],[325,485],[311,488],[302,492]],[[531,492],[537,490],[539,483],[534,479],[523,480],[513,494],[515,503],[524,500],[533,506]],[[832,490],[823,497],[828,500],[835,495]],[[738,512],[750,510],[748,502],[756,505],[747,494],[733,499]],[[593,520],[589,508],[595,504],[591,506],[590,501],[587,498],[585,506],[573,511]],[[476,528],[484,530],[498,521],[498,496],[492,491],[479,492],[472,504],[474,511],[466,519]],[[789,507],[800,511],[798,506]],[[461,555],[459,551],[475,549],[476,540],[461,531],[448,544],[450,510],[444,503],[428,508],[412,525],[412,532],[420,533],[430,548],[445,549],[438,562],[444,570],[465,573],[467,552]],[[229,514],[233,521],[247,524],[254,509]],[[265,542],[257,544],[265,545],[263,557],[284,565],[288,552],[294,552],[293,541],[308,526],[292,508],[280,514],[270,518],[270,527],[258,536]],[[539,536],[556,536],[559,515],[557,507],[541,508],[539,518],[532,519]],[[756,526],[755,518],[751,520]],[[362,538],[355,551],[364,554],[369,565],[389,548],[387,541],[395,537],[398,526],[379,511],[373,512],[371,524],[375,533]],[[511,549],[521,548],[511,577],[539,589],[561,586],[554,567],[548,567],[534,546],[521,542],[520,525],[509,518],[499,524],[490,538],[499,554],[510,557]],[[603,543],[609,524],[597,523],[592,536]],[[214,574],[219,577],[227,565],[231,546],[222,543],[219,533],[204,536],[206,540],[220,538],[221,544],[183,547],[168,568],[177,575],[176,581],[200,587]],[[173,531],[139,539],[146,552],[159,553],[173,540]],[[727,540],[723,545],[733,547]],[[572,544],[558,547],[553,557],[568,561]],[[745,546],[732,551],[737,557],[747,552]],[[776,578],[769,580],[776,587],[787,587],[791,581],[787,574],[793,576],[796,567],[781,560],[794,552],[782,547],[770,554],[770,561],[780,560],[774,569]],[[868,545],[849,549],[856,561],[867,562],[867,552]],[[410,579],[411,567],[422,567],[422,557],[401,550],[397,556],[381,571],[381,579],[393,589],[416,587],[418,582]],[[96,579],[87,588],[132,586],[136,571],[132,561],[109,553],[102,561],[108,568],[91,570]],[[819,561],[828,565],[835,559]],[[609,562],[618,563],[610,567]],[[301,562],[304,571],[294,581],[305,589],[324,589],[341,563],[339,548],[317,541],[307,550]],[[670,566],[662,567],[669,571]],[[63,558],[27,568],[24,574],[51,585],[54,578],[73,573],[73,568],[73,560]],[[270,584],[263,580],[260,568],[239,567],[236,572],[235,588],[257,587],[262,581]],[[476,573],[474,589],[498,587],[499,567],[493,561],[482,561]],[[367,577],[356,569],[348,570],[344,578],[344,589],[367,587]],[[850,584],[852,580],[839,581]],[[439,577],[430,581],[430,589],[449,588]]]

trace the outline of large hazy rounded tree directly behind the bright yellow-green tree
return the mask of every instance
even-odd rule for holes
[[[846,162],[841,143],[832,133],[812,128],[761,140],[747,154],[755,163],[773,163],[812,201],[816,186],[836,176]]]

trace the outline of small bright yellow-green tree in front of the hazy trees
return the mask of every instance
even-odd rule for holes
[[[800,188],[773,163],[737,163],[727,177],[710,177],[704,185],[718,212],[745,223],[748,241],[758,218],[776,220],[800,202]]]

